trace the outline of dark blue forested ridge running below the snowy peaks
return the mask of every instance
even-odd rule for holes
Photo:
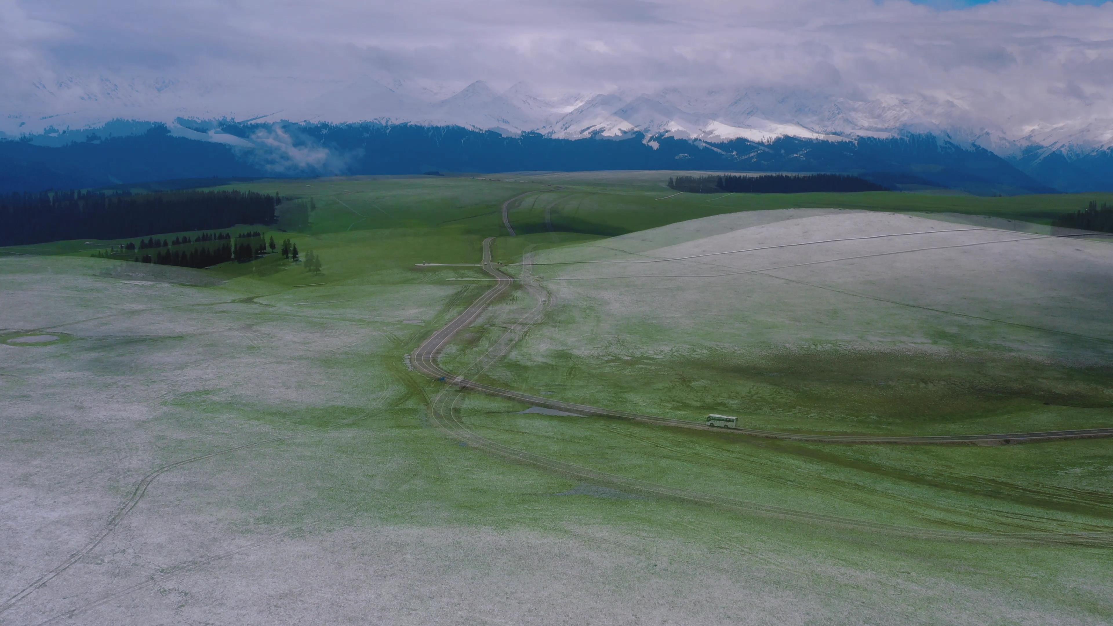
[[[210,176],[599,169],[914,174],[923,177],[917,184],[979,195],[1055,192],[985,149],[962,147],[932,135],[860,137],[855,141],[781,137],[762,143],[733,139],[708,144],[674,137],[652,137],[650,141],[639,133],[560,139],[538,133],[508,136],[459,126],[376,123],[221,123],[220,130],[244,141],[232,147],[173,137],[162,126],[144,135],[60,147],[0,140],[0,193]],[[276,131],[292,141],[289,150],[256,139]],[[289,158],[288,154],[302,149],[327,154],[328,158],[312,167]],[[1073,190],[1107,178],[1100,174],[1113,168],[1113,157],[1107,163],[1095,162],[1094,167],[1082,178],[1071,179],[1077,187]]]

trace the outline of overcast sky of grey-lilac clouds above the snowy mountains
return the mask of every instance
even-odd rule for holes
[[[1113,118],[1113,3],[969,3],[0,0],[0,102],[33,107],[37,81],[105,76],[177,80],[201,98],[266,108],[323,80],[390,76],[927,97],[1017,127]]]

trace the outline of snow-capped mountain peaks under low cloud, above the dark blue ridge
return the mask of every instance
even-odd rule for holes
[[[376,123],[427,127],[459,126],[514,137],[536,133],[553,139],[641,136],[723,144],[768,144],[782,138],[856,143],[930,135],[962,149],[986,149],[1060,188],[1078,188],[1078,169],[1104,172],[1111,162],[1113,121],[1080,119],[1009,126],[993,111],[974,111],[937,95],[867,98],[800,89],[719,86],[666,87],[652,92],[542,92],[525,82],[495,89],[408,81],[383,72],[344,81],[298,81],[258,77],[250,86],[173,78],[97,76],[38,81],[19,94],[0,94],[0,139],[28,136],[60,146],[90,133],[142,133],[162,123],[171,135],[247,147],[250,141],[221,130],[249,121],[298,124]],[[269,97],[260,97],[267,94]],[[260,102],[263,102],[260,105]],[[130,128],[130,130],[129,130]],[[98,133],[98,129],[105,133]],[[1089,159],[1089,160],[1087,160]],[[1064,165],[1066,164],[1066,165]],[[1072,178],[1073,177],[1073,178]]]

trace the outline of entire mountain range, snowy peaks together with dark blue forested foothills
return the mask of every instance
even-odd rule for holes
[[[1113,189],[1109,125],[1008,128],[926,96],[881,101],[743,87],[554,94],[481,80],[452,91],[362,77],[303,86],[259,111],[235,94],[175,80],[40,82],[35,101],[21,104],[55,113],[9,113],[0,123],[8,139],[0,190],[638,168],[900,174],[977,194]]]

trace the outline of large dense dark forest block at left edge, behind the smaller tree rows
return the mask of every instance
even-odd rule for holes
[[[0,196],[0,245],[272,224],[280,202],[255,192],[10,194]]]

